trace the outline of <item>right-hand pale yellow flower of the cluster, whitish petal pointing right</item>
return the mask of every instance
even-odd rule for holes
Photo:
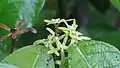
[[[76,31],[78,27],[78,25],[76,25],[76,20],[75,19],[71,20],[73,20],[73,24],[71,26],[68,25],[66,21],[64,21],[67,27],[58,27],[58,29],[62,30],[65,34],[68,34],[71,37],[71,39],[75,40],[74,42],[76,42],[77,40],[90,40],[89,37],[82,36],[83,35],[82,33]]]

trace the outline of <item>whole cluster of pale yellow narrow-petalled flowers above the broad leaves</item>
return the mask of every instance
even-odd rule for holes
[[[58,51],[64,52],[64,50],[67,50],[69,45],[76,44],[79,40],[90,40],[89,37],[85,37],[83,36],[82,33],[76,31],[78,25],[76,24],[75,19],[65,20],[65,19],[58,18],[58,19],[44,20],[44,21],[47,22],[47,25],[50,25],[50,24],[56,25],[60,23],[64,23],[66,25],[66,27],[58,26],[58,29],[64,32],[64,34],[59,36],[56,35],[56,32],[53,31],[52,29],[46,28],[46,30],[50,32],[50,35],[48,35],[47,39],[37,40],[33,44],[33,45],[37,45],[40,43],[44,44],[45,47],[50,49],[48,51],[48,54],[55,53],[57,56],[59,56],[60,54]],[[73,21],[72,25],[68,24],[69,21]],[[68,37],[70,37],[69,40],[71,43],[67,46],[66,43],[68,41]],[[61,39],[63,39],[62,42],[60,41]]]

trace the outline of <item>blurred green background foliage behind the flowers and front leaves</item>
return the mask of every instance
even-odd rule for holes
[[[0,23],[14,27],[14,24],[23,17],[26,20],[23,27],[33,26],[38,31],[36,35],[28,32],[20,36],[16,48],[32,44],[37,39],[46,38],[48,32],[45,30],[46,23],[43,20],[60,17],[75,18],[80,32],[92,39],[106,41],[120,49],[120,12],[115,8],[119,9],[120,0],[46,0],[40,12],[39,8],[43,7],[42,2],[45,1],[0,0]],[[0,28],[0,36],[5,33],[6,31]],[[3,44],[4,46],[0,46],[1,55],[3,51],[8,52],[6,49],[10,45],[10,39],[6,39]]]

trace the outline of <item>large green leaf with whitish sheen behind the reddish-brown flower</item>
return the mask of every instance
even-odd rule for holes
[[[24,18],[24,26],[30,27],[39,19],[44,4],[45,0],[0,0],[0,23],[14,27]]]

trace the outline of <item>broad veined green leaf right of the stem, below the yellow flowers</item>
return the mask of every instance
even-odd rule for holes
[[[70,68],[120,67],[120,51],[101,41],[80,41],[76,47],[71,45],[68,56]]]

